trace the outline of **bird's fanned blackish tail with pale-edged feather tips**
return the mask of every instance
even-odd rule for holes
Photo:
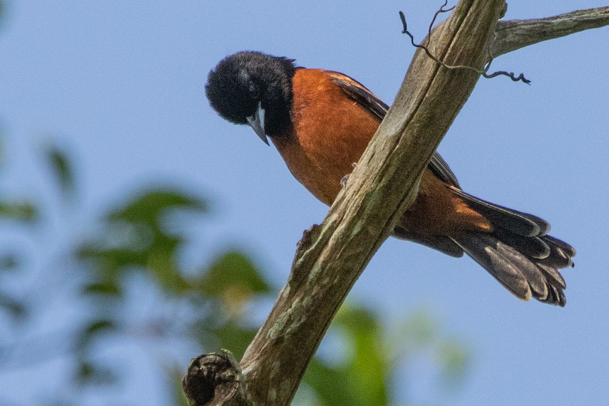
[[[550,225],[537,216],[451,189],[493,226],[491,232],[463,233],[452,240],[518,298],[565,306],[566,284],[558,270],[573,266],[574,248],[547,236]]]

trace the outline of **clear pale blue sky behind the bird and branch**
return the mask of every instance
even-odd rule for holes
[[[216,203],[201,245],[246,247],[282,285],[302,231],[327,208],[273,147],[208,107],[207,72],[233,52],[264,51],[344,72],[390,103],[414,52],[398,11],[421,39],[439,5],[10,2],[0,30],[0,122],[15,175],[5,190],[40,187],[31,156],[52,136],[79,157],[83,217],[133,186],[186,182]],[[602,5],[512,0],[506,18]],[[576,247],[576,267],[563,273],[565,309],[523,303],[470,259],[395,239],[351,293],[389,321],[431,309],[470,343],[470,374],[442,404],[609,402],[608,43],[609,29],[589,30],[498,58],[493,68],[524,72],[532,85],[481,80],[439,148],[466,191],[543,217]],[[75,222],[66,233],[83,230]],[[211,255],[188,254],[193,263]]]

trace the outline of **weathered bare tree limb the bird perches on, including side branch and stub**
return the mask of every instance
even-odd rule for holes
[[[607,25],[607,9],[498,23],[503,0],[462,0],[433,30],[429,49],[446,65],[481,69],[489,47],[498,56]],[[290,278],[241,365],[227,363],[227,354],[191,362],[184,387],[193,404],[284,406],[292,401],[337,309],[414,200],[424,168],[478,77],[470,69],[443,68],[418,50],[347,187],[322,225],[312,226],[298,244]],[[214,360],[218,368],[208,365]],[[201,390],[209,382],[217,383],[213,396]]]

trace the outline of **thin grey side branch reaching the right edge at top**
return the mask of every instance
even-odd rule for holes
[[[609,7],[578,10],[548,18],[499,21],[490,48],[493,58],[541,41],[609,25]]]

